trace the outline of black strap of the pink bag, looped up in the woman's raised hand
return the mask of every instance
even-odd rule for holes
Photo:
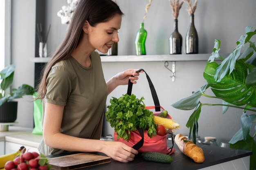
[[[142,68],[139,69],[138,71],[136,71],[136,73],[139,73],[140,71],[144,71]],[[148,84],[149,84],[149,87],[150,87],[150,91],[151,91],[151,94],[152,94],[152,97],[153,97],[153,101],[154,101],[154,104],[155,104],[155,111],[156,112],[159,112],[161,111],[160,110],[160,103],[159,103],[159,99],[157,97],[157,92],[155,91],[155,87],[153,85],[153,83],[151,82],[151,79],[149,78],[148,74],[146,73],[146,71],[144,71],[144,73],[146,74],[146,77],[148,79]],[[133,75],[131,75],[131,77],[134,77]],[[131,80],[129,79],[128,81],[128,89],[127,89],[127,94],[128,95],[131,95],[132,94],[132,82]]]

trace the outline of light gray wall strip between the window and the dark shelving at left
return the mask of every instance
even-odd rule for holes
[[[35,0],[12,1],[11,63],[16,65],[13,88],[21,84],[34,86],[34,64],[30,59],[35,51]],[[33,103],[25,96],[18,101],[18,126],[33,128]]]

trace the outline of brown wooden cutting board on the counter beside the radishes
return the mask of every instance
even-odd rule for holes
[[[110,157],[90,153],[78,153],[48,159],[53,170],[74,170],[89,166],[110,163]]]

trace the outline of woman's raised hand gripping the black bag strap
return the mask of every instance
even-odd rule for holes
[[[143,71],[140,71],[139,73],[136,73],[136,71],[138,71],[138,69],[129,69],[120,73],[117,73],[117,75],[115,75],[116,80],[117,80],[117,86],[119,85],[127,85],[128,84],[128,80],[130,79],[131,82],[133,84],[136,84],[136,80],[139,79],[139,73],[142,73]],[[133,75],[134,77],[131,77],[131,75]]]

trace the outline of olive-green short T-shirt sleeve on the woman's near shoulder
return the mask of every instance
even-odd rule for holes
[[[47,77],[45,102],[65,106],[72,91],[70,72],[64,66],[52,68]]]

